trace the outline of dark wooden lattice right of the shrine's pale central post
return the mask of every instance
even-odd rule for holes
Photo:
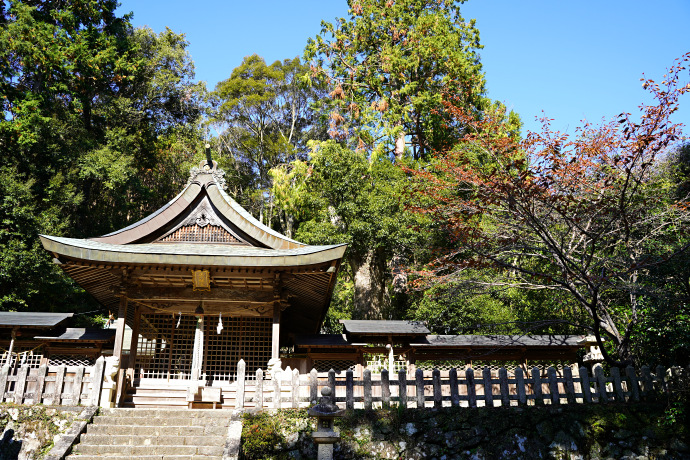
[[[237,362],[246,363],[246,376],[266,369],[271,359],[271,318],[223,318],[223,330],[217,333],[217,317],[206,318],[204,367],[202,374],[210,381],[234,381]]]

